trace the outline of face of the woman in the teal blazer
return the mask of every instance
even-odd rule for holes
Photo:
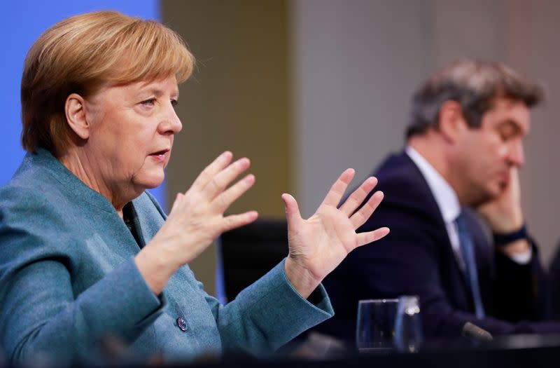
[[[174,109],[178,98],[175,76],[107,87],[87,98],[90,179],[113,196],[137,196],[160,185],[182,128]]]

